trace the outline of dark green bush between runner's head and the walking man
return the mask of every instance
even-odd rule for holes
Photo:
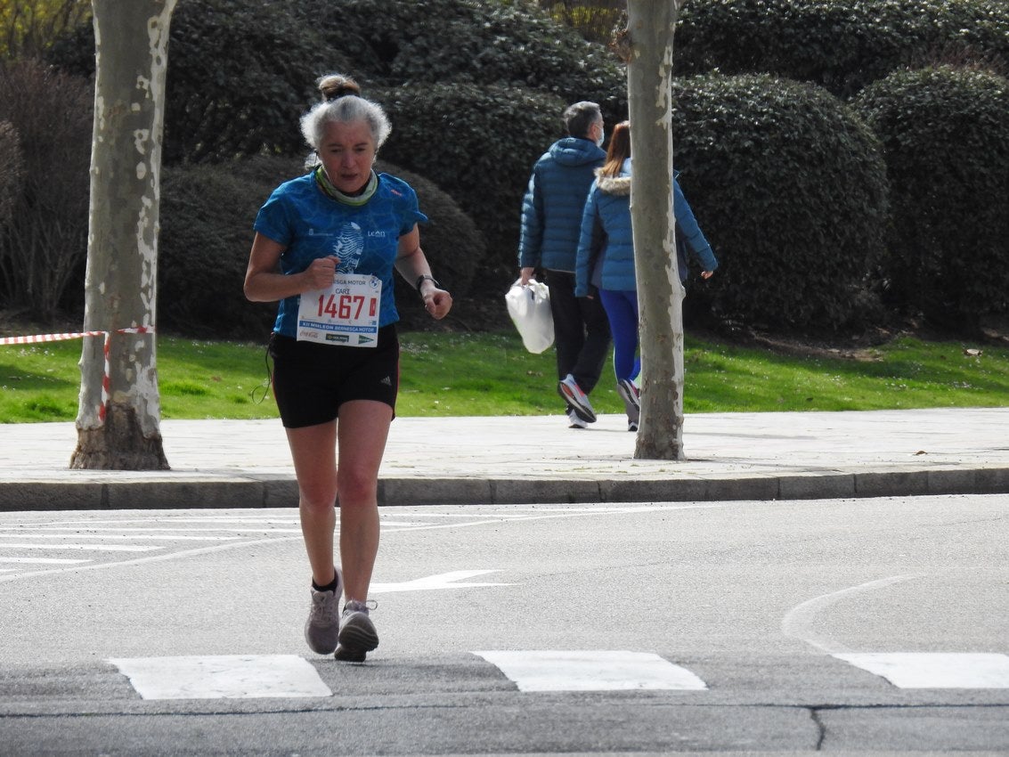
[[[535,90],[435,84],[372,93],[393,121],[382,156],[452,196],[484,234],[492,291],[518,269],[522,198],[533,164],[563,134],[566,103]],[[409,124],[400,129],[400,124]]]

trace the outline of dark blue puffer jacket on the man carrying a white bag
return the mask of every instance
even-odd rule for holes
[[[520,268],[574,272],[585,197],[605,157],[591,140],[569,136],[536,161],[522,203]]]

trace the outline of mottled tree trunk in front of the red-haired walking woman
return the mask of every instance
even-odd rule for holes
[[[635,457],[683,460],[683,287],[673,236],[672,62],[677,2],[629,0],[631,219],[641,313]]]

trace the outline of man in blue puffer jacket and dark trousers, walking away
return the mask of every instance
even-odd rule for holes
[[[564,111],[568,136],[550,145],[533,167],[522,204],[519,268],[523,285],[536,268],[550,288],[557,349],[557,391],[572,428],[595,421],[588,401],[609,352],[609,324],[598,297],[574,296],[581,215],[595,170],[606,153],[602,113],[591,102]]]

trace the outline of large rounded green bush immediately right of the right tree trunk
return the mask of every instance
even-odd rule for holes
[[[690,298],[805,332],[858,327],[883,252],[880,145],[822,89],[771,77],[674,84],[674,164],[720,266]]]

